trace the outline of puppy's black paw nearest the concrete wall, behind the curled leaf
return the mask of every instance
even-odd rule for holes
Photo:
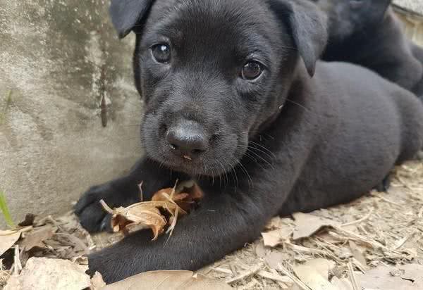
[[[127,206],[133,202],[128,196],[114,189],[110,182],[91,187],[75,205],[75,214],[88,232],[111,230],[111,217],[102,208],[101,200],[111,207]]]

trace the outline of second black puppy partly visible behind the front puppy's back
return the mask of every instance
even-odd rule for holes
[[[392,0],[312,1],[328,15],[324,61],[362,65],[423,98],[418,89],[423,86],[423,66],[389,8]]]

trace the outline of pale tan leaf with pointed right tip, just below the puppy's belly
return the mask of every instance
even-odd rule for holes
[[[311,237],[323,227],[340,227],[341,224],[334,220],[305,213],[294,213],[295,229],[293,239]]]

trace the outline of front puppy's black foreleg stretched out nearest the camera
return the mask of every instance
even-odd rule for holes
[[[256,239],[281,206],[280,191],[259,188],[206,194],[198,210],[178,221],[171,237],[151,241],[149,231],[142,231],[90,255],[90,274],[99,271],[110,283],[149,270],[197,270],[223,258]]]

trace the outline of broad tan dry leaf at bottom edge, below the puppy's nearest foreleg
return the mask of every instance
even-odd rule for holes
[[[105,286],[102,290],[225,290],[225,282],[209,279],[190,271],[154,271],[129,277]]]

